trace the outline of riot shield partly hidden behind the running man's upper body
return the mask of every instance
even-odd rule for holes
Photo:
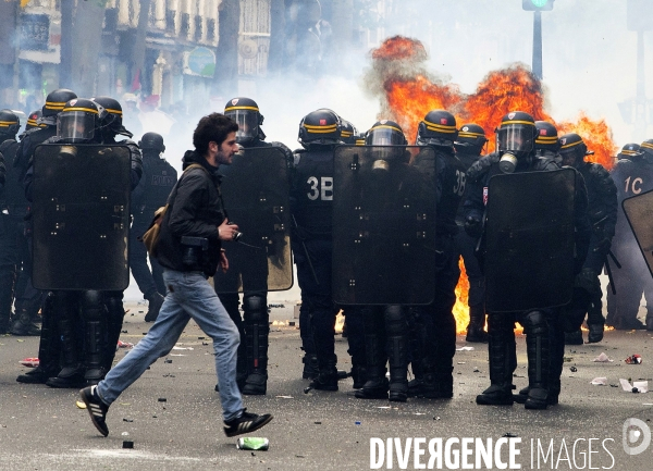
[[[273,292],[293,286],[289,179],[279,147],[254,147],[234,156],[221,189],[229,219],[243,234],[223,243],[229,271],[218,270],[215,292]]]

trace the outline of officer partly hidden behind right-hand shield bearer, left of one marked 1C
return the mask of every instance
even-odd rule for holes
[[[588,343],[603,339],[605,320],[602,314],[603,293],[599,275],[607,262],[607,253],[612,246],[617,223],[617,188],[609,173],[600,163],[586,162],[584,157],[594,152],[589,151],[582,138],[575,133],[565,134],[559,138],[559,154],[563,165],[578,170],[583,176],[588,189],[588,219],[592,225],[592,238],[588,257],[581,272],[576,276],[574,299],[565,308],[565,344],[582,345],[582,323],[586,312],[588,315]]]

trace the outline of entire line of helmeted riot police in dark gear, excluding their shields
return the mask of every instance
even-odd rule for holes
[[[479,405],[517,401],[529,409],[545,409],[557,404],[564,345],[583,343],[581,324],[586,317],[588,343],[601,342],[606,324],[620,330],[653,331],[653,281],[619,209],[625,198],[653,189],[653,139],[624,146],[608,173],[601,164],[586,161],[586,156],[593,152],[578,134],[558,136],[552,123],[534,121],[528,113],[506,114],[497,124],[496,150],[484,154],[488,137],[481,126],[458,126],[454,115],[445,110],[429,112],[418,124],[415,140],[415,146],[429,149],[428,153],[411,157],[402,151],[404,157],[394,160],[380,153],[374,165],[385,173],[405,173],[411,165],[426,175],[420,185],[426,193],[431,191],[429,198],[436,207],[432,301],[422,306],[336,305],[332,295],[334,152],[342,145],[406,147],[408,140],[402,127],[383,120],[359,135],[338,114],[320,109],[300,121],[298,140],[303,148],[293,152],[281,142],[264,140],[263,116],[254,100],[230,100],[224,114],[238,124],[236,137],[245,152],[249,148],[275,147],[287,161],[292,251],[301,290],[303,377],[311,381],[310,388],[337,391],[338,381],[350,375],[356,397],[361,399],[452,398],[456,350],[453,308],[460,258],[469,280],[466,340],[489,344],[491,385],[477,397]],[[41,293],[33,287],[30,204],[35,149],[49,142],[121,144],[130,148],[130,264],[149,303],[146,321],[156,320],[165,286],[156,259],[150,257],[148,267],[148,255],[138,237],[148,228],[155,210],[165,203],[177,175],[161,158],[165,147],[160,135],[150,132],[138,144],[130,140],[132,134],[122,124],[121,104],[110,97],[82,99],[71,90],[56,90],[48,95],[42,110],[29,115],[27,127],[16,141],[19,127],[14,113],[0,111],[0,332],[40,335],[39,365],[19,376],[19,382],[52,387],[97,384],[112,365],[124,317],[123,295],[96,290]],[[124,139],[116,141],[119,136]],[[576,175],[571,302],[525,312],[488,312],[479,239],[484,231],[490,178],[560,168],[575,169]],[[229,178],[229,170],[225,174]],[[393,191],[392,187],[386,190]],[[230,260],[234,261],[231,272],[220,284],[242,283],[243,295],[241,298],[237,289],[227,289],[220,292],[219,297],[241,334],[237,384],[244,394],[264,395],[269,310],[268,293],[261,288],[260,278],[263,277],[264,286],[268,269],[251,258],[245,257],[242,262],[237,257]],[[621,268],[615,269],[619,262]],[[606,264],[611,289],[604,319],[599,275]],[[637,319],[642,293],[648,310],[644,323]],[[39,310],[40,330],[35,324]],[[346,319],[350,373],[336,368],[334,325],[341,310]],[[526,334],[529,384],[513,394],[516,322]]]

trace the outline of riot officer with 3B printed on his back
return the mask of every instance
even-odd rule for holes
[[[317,110],[304,116],[298,138],[304,150],[296,153],[291,186],[291,212],[296,224],[292,248],[304,311],[300,335],[305,348],[311,340],[315,344],[319,373],[310,387],[324,391],[337,391],[331,236],[333,151],[340,139],[341,120],[334,112]],[[311,354],[305,354],[306,364]]]

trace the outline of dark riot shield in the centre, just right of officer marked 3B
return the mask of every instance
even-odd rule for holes
[[[334,159],[334,301],[432,302],[436,204],[433,150],[340,146]]]

